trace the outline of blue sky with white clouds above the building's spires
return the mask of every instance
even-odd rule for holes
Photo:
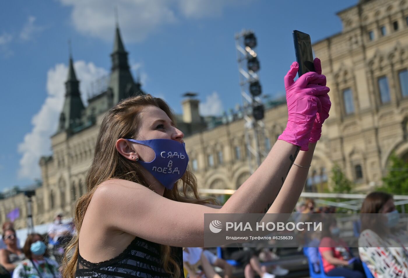
[[[295,60],[292,31],[312,42],[341,31],[337,11],[357,0],[48,0],[0,2],[0,190],[40,178],[38,159],[62,108],[72,42],[83,98],[109,73],[114,7],[133,75],[181,112],[181,94],[199,93],[202,112],[241,103],[234,34],[253,29],[264,93],[284,94]],[[306,15],[306,16],[305,16]],[[324,71],[324,65],[323,65]]]

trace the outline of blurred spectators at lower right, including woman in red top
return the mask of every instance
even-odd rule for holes
[[[334,212],[333,209],[315,211],[314,207],[313,200],[306,200],[298,207],[298,211]],[[396,229],[399,214],[392,195],[385,192],[368,194],[361,205],[360,213],[358,254],[353,254],[347,243],[341,239],[340,229],[334,218],[325,222],[321,234],[315,233],[314,237],[306,240],[306,256],[313,271],[324,271],[326,276],[364,278],[365,264],[375,278],[408,277],[408,234]]]

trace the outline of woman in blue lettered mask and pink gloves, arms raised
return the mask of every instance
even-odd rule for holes
[[[72,255],[65,258],[63,276],[183,277],[182,247],[204,246],[204,214],[290,214],[331,105],[320,60],[314,62],[316,72],[296,81],[299,65],[290,67],[284,78],[286,129],[222,207],[198,195],[184,134],[164,100],[133,96],[107,111],[88,190],[75,205],[78,233],[67,249]]]

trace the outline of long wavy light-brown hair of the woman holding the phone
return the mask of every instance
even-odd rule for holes
[[[63,260],[64,270],[62,275],[64,278],[75,277],[79,254],[79,232],[86,209],[98,185],[105,180],[120,178],[149,187],[140,171],[140,166],[124,158],[115,148],[115,143],[118,139],[134,138],[140,120],[138,115],[143,107],[149,105],[162,109],[167,116],[175,122],[174,113],[169,105],[161,98],[155,98],[150,94],[134,96],[123,100],[110,109],[102,120],[98,139],[96,140],[92,164],[86,177],[87,192],[78,199],[73,208],[76,233],[65,252],[65,254],[71,255],[66,255]],[[182,178],[175,183],[172,190],[164,190],[163,196],[179,202],[217,203],[212,197],[199,197],[197,193],[197,180],[189,168],[187,168]],[[171,258],[171,251],[170,246],[162,245],[161,254],[163,267],[167,273],[171,274],[171,277],[180,277],[182,270],[176,261]],[[182,258],[180,258],[180,260],[181,259]]]

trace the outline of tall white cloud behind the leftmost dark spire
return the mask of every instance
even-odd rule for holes
[[[108,72],[96,67],[92,62],[77,61],[74,63],[75,73],[80,80],[82,100],[85,102],[84,91],[91,82],[105,76]],[[56,64],[47,73],[47,98],[41,109],[31,119],[33,128],[24,136],[18,145],[18,152],[22,155],[18,178],[39,178],[40,167],[38,161],[41,156],[51,154],[50,137],[57,130],[58,119],[64,103],[64,82],[67,80],[68,66]]]

